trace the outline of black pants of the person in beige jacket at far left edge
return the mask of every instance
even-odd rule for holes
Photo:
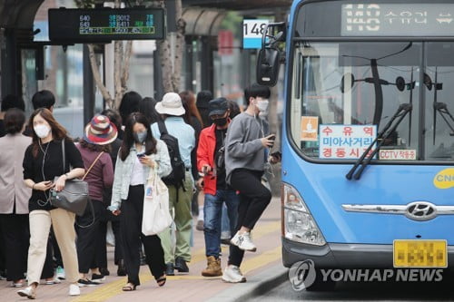
[[[5,244],[5,268],[8,281],[25,278],[27,255],[30,241],[28,214],[0,215],[1,229]]]

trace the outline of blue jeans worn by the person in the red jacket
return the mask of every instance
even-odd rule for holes
[[[221,252],[222,203],[227,205],[231,235],[234,235],[238,219],[239,199],[234,190],[217,190],[216,195],[205,194],[203,205],[203,234],[206,257],[219,258]],[[232,246],[231,246],[232,247]]]

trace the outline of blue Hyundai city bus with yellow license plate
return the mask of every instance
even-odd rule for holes
[[[284,266],[448,268],[454,2],[295,0],[258,82],[281,63]]]

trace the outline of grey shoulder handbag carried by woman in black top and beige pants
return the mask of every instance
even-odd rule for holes
[[[65,151],[64,151],[64,140],[62,141],[63,151],[63,169],[65,171]],[[61,191],[51,190],[50,202],[56,208],[66,209],[70,212],[75,213],[77,216],[83,216],[86,205],[90,199],[88,196],[88,183],[84,181],[90,170],[92,170],[94,163],[99,160],[101,152],[98,157],[94,160],[90,168],[85,172],[82,180],[73,179],[66,180],[64,189]],[[58,176],[55,176],[54,182],[58,180]],[[93,208],[93,205],[92,205]]]

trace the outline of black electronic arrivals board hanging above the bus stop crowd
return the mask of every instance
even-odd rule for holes
[[[49,9],[49,39],[60,43],[157,40],[165,33],[162,8]]]

